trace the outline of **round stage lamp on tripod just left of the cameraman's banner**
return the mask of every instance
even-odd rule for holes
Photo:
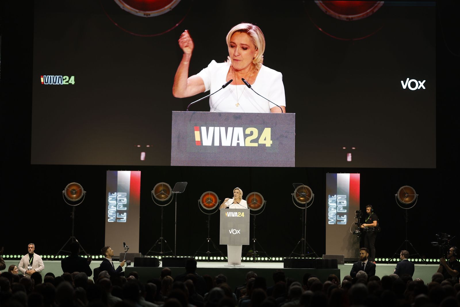
[[[293,194],[292,194],[292,201],[294,205],[303,210],[302,213],[302,237],[300,238],[299,242],[297,245],[294,247],[293,251],[289,255],[291,257],[292,255],[299,255],[300,257],[309,257],[312,255],[318,255],[316,252],[311,248],[310,244],[307,242],[306,237],[307,237],[307,208],[310,207],[313,202],[315,201],[315,194],[311,191],[311,189],[303,184],[299,183],[293,183],[293,186],[295,188]],[[304,206],[298,206],[296,203],[303,204]],[[296,253],[296,249],[300,246],[300,252]],[[309,250],[311,252],[306,252],[306,247],[308,246]]]

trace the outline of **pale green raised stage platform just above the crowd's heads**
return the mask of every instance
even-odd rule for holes
[[[6,260],[6,269],[8,266],[11,264],[14,264],[17,266],[19,263],[19,260],[13,261],[13,260]],[[94,269],[96,266],[99,266],[101,261],[92,261],[90,264],[90,267]],[[114,264],[119,263],[117,261],[114,261]],[[44,261],[45,264],[45,270],[42,271],[42,275],[45,276],[47,272],[52,272],[54,275],[61,275],[62,274],[62,269],[61,269],[61,261]],[[211,275],[211,276],[216,276],[220,273],[224,274],[228,278],[229,284],[233,287],[239,284],[242,284],[242,280],[244,281],[244,278],[246,276],[246,272],[248,271],[254,271],[256,272],[259,276],[264,276],[267,279],[267,286],[271,286],[273,283],[272,280],[272,273],[276,269],[282,269],[287,277],[292,277],[297,279],[299,282],[302,282],[302,277],[306,272],[311,272],[312,274],[318,276],[321,281],[325,281],[329,274],[335,274],[337,277],[339,277],[340,280],[344,278],[345,275],[350,274],[351,266],[352,264],[344,264],[344,265],[339,265],[338,269],[323,269],[323,270],[316,270],[316,269],[285,269],[283,268],[283,263],[282,262],[242,262],[242,267],[225,267],[227,263],[222,261],[222,262],[205,262],[205,261],[199,261],[197,263],[197,270],[196,272],[200,275]],[[383,263],[377,263],[377,268],[376,268],[376,275],[379,276],[380,278],[385,275],[390,275],[394,272],[394,269],[396,267],[395,263],[392,264],[383,264]],[[414,272],[414,279],[415,278],[420,278],[425,283],[428,283],[431,281],[431,276],[437,271],[437,268],[439,265],[437,264],[416,264],[415,265],[415,272]],[[162,269],[162,266],[160,264],[160,267],[137,267],[137,266],[124,266],[125,272],[129,273],[132,271],[136,271],[139,273],[139,278],[141,281],[145,282],[149,280],[150,278],[158,278],[160,276],[160,272]],[[179,275],[184,272],[184,268],[181,267],[171,267],[171,270],[173,271],[173,277],[176,275]],[[3,272],[3,271],[1,271]],[[126,273],[126,274],[127,274]]]

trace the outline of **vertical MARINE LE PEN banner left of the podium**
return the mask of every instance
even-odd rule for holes
[[[140,171],[107,171],[104,244],[115,255],[123,252],[123,242],[130,253],[139,252],[140,188]]]

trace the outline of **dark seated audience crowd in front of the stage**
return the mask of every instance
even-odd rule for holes
[[[110,257],[112,254],[109,247],[104,247],[103,251],[106,256]],[[25,256],[23,259],[28,260]],[[365,266],[370,266],[370,263],[365,263]],[[441,272],[434,273],[431,280],[424,281],[420,278],[413,280],[409,273],[399,272],[399,275],[391,274],[380,278],[358,270],[353,277],[347,275],[342,281],[335,275],[329,275],[328,280],[322,282],[309,273],[303,276],[303,280],[295,280],[282,270],[274,270],[273,280],[269,281],[258,276],[257,272],[250,271],[242,276],[241,284],[228,284],[223,274],[200,276],[196,273],[196,265],[196,260],[190,258],[186,262],[185,270],[180,269],[180,272],[173,272],[165,267],[159,276],[139,278],[137,272],[123,276],[108,261],[106,267],[111,267],[116,273],[110,274],[110,270],[104,270],[92,279],[88,278],[86,272],[64,272],[57,276],[48,272],[42,277],[39,271],[26,268],[24,270],[30,272],[21,275],[14,271],[17,270],[15,266],[16,268],[10,268],[11,270],[0,275],[0,306],[460,307],[458,277],[450,275],[451,278],[446,278]],[[34,270],[35,272],[31,272]]]

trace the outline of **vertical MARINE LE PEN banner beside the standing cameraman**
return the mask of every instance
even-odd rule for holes
[[[358,258],[359,241],[352,234],[359,210],[360,174],[326,174],[326,254]]]

